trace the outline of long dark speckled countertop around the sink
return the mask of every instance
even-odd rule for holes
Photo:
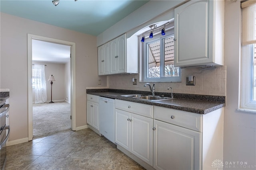
[[[145,100],[138,100],[134,98],[122,97],[120,95],[125,94],[150,94],[147,91],[136,90],[117,90],[117,89],[87,89],[87,94],[93,94],[96,96],[102,96],[106,98],[126,100],[130,102],[136,102],[141,104],[148,104],[153,106],[166,107],[170,109],[188,111],[198,114],[210,113],[225,106],[225,96],[211,96],[211,95],[196,95],[196,94],[177,94],[174,93],[173,100],[163,100],[159,102],[151,102]],[[169,96],[170,93],[156,92],[156,95]]]

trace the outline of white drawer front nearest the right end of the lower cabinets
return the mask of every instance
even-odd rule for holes
[[[155,106],[154,119],[195,131],[202,131],[202,115],[200,114]]]

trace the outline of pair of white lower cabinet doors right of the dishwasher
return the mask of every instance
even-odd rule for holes
[[[153,166],[153,119],[115,109],[116,143]]]

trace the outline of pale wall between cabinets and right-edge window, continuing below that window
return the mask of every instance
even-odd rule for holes
[[[225,59],[227,99],[224,107],[224,168],[226,162],[242,161],[256,168],[256,114],[237,111],[240,66],[240,2],[225,1]]]

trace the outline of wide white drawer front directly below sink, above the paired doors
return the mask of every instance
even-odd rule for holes
[[[128,111],[138,115],[153,118],[153,106],[147,104],[140,104],[135,102],[128,102],[124,100],[115,100],[116,109]]]

